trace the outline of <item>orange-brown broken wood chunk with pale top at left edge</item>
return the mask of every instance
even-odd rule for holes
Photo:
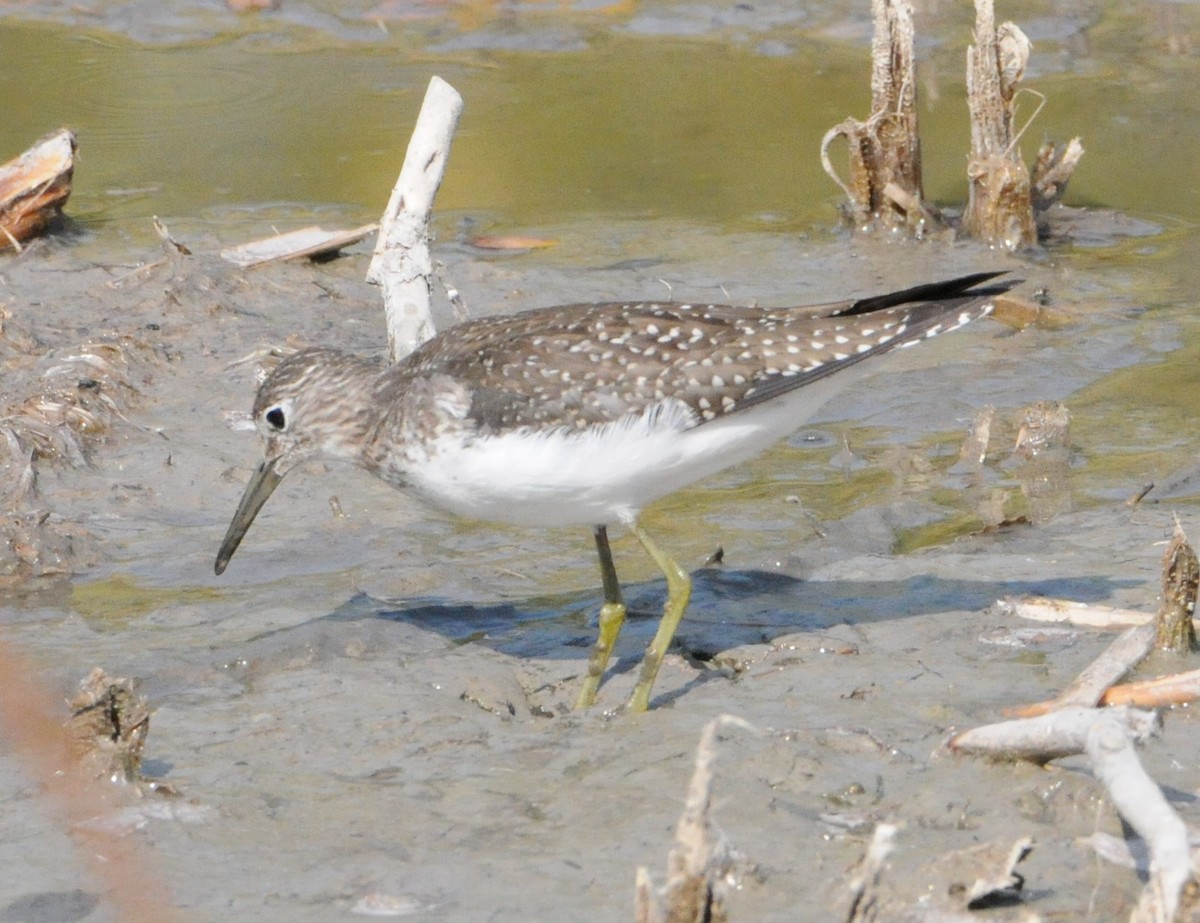
[[[74,174],[74,132],[60,128],[0,166],[0,251],[35,238],[62,214]]]

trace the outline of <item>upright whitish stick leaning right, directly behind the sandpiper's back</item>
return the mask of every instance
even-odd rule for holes
[[[462,97],[440,77],[430,80],[400,178],[379,221],[367,282],[383,288],[392,361],[433,336],[430,212],[442,185]]]

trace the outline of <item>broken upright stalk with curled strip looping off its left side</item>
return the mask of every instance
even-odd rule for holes
[[[871,114],[866,121],[846,119],[826,132],[821,164],[846,193],[856,227],[920,234],[936,222],[922,187],[912,5],[872,0],[871,12]],[[838,138],[850,148],[846,181],[829,160],[829,145]]]

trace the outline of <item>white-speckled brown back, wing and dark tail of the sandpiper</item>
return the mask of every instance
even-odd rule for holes
[[[924,296],[913,302],[896,293],[787,308],[568,305],[462,324],[407,365],[469,388],[469,415],[487,432],[583,430],[667,397],[700,425],[966,323],[998,290],[958,294],[977,281],[912,289]]]

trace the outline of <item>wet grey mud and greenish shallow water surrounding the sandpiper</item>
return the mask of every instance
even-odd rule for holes
[[[1195,460],[1198,8],[1002,11],[1028,24],[1031,85],[1048,97],[1030,145],[1044,131],[1088,149],[1068,202],[1090,214],[1020,259],[836,227],[816,149],[864,115],[865,7],[372,10],[35,4],[0,19],[0,150],[59,124],[80,139],[73,233],[0,257],[6,337],[28,331],[35,359],[119,341],[138,392],[91,467],[42,466],[37,503],[71,533],[76,573],[13,593],[5,637],[64,694],[95,664],[144,682],[148,771],[197,811],[133,835],[184,917],[326,921],[382,893],[443,921],[625,919],[634,868],[662,869],[700,727],[721,712],[763,731],[720,757],[718,820],[746,857],[734,918],[828,918],[862,850],[839,826],[851,815],[908,825],[898,868],[916,883],[929,856],[1033,833],[1033,910],[1127,912],[1133,874],[1097,871],[1070,844],[1117,829],[1085,772],[1048,781],[930,754],[952,726],[1054,695],[1105,643],[1022,640],[992,599],[1152,609],[1171,514],[1196,531],[1186,490],[1123,501]],[[970,19],[931,8],[918,28],[928,188],[953,203]],[[455,521],[313,471],[211,575],[258,452],[223,418],[252,400],[254,362],[236,360],[382,346],[367,245],[254,272],[216,252],[373,220],[434,72],[467,100],[434,250],[473,313],[662,298],[665,283],[690,300],[817,301],[982,268],[1012,268],[1057,312],[912,350],[762,458],[648,510],[680,561],[720,545],[725,563],[698,575],[680,631],[700,660],[668,663],[643,718],[563,713],[599,601],[586,534]],[[161,257],[151,215],[197,256],[146,265]],[[462,242],[478,230],[558,242],[488,254]],[[1010,450],[1039,400],[1072,412],[1049,498],[1048,473]],[[959,446],[988,404],[996,440],[971,468]],[[1022,515],[1037,525],[979,534]],[[614,547],[631,603],[655,610],[653,567],[630,539]],[[623,636],[605,708],[653,625]],[[737,681],[704,665],[781,635]],[[1146,759],[1194,823],[1189,723],[1172,715]],[[0,919],[109,918],[53,807],[0,759],[13,869]],[[840,795],[852,783],[863,793]]]

